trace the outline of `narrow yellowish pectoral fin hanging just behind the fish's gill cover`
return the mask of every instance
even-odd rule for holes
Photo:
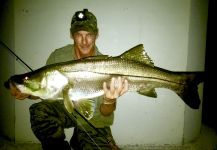
[[[74,104],[69,98],[69,90],[70,90],[70,88],[72,88],[72,87],[67,85],[63,89],[63,103],[64,103],[64,106],[65,106],[66,110],[69,113],[72,113],[74,111]]]

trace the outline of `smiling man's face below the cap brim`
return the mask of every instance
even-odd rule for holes
[[[75,49],[81,56],[92,54],[97,35],[88,31],[78,31],[72,35]]]

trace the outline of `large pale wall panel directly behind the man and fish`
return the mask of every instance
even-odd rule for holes
[[[174,71],[188,69],[191,0],[15,0],[14,6],[15,50],[33,69],[43,66],[52,50],[72,42],[71,17],[83,8],[98,18],[97,45],[101,52],[118,55],[142,43],[156,66]],[[201,57],[204,56],[198,56]],[[15,71],[23,73],[28,69],[16,63]],[[185,104],[170,90],[158,89],[157,93],[156,99],[136,93],[127,93],[119,99],[112,126],[118,144],[183,142]],[[37,142],[29,123],[28,108],[33,102],[15,102],[17,142]],[[71,134],[67,130],[68,138]]]

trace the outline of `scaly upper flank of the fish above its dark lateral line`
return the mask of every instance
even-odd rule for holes
[[[68,65],[66,65],[66,67],[62,67],[60,71],[89,71],[101,74],[145,77],[147,79],[155,78],[178,84],[183,84],[183,81],[185,81],[184,76],[175,72],[157,67],[150,67],[144,63],[123,60],[120,58],[108,58],[106,60],[85,59],[76,61],[75,64],[73,64],[73,62],[69,62]]]

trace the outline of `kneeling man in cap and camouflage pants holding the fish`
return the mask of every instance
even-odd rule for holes
[[[56,49],[46,64],[101,55],[95,42],[98,37],[97,19],[87,9],[76,12],[71,20],[71,38],[73,45]],[[113,78],[108,85],[103,83],[104,96],[94,100],[95,110],[87,122],[79,112],[69,112],[63,101],[44,100],[30,107],[31,128],[40,140],[44,150],[73,149],[118,149],[111,134],[116,99],[128,90],[128,82],[121,77]],[[21,93],[12,84],[10,91],[16,99],[37,99]],[[81,113],[82,114],[82,113]],[[64,128],[74,127],[70,145],[65,141]]]

